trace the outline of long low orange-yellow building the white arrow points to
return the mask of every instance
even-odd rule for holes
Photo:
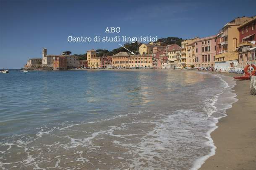
[[[153,67],[153,54],[131,55],[128,57],[128,67]]]

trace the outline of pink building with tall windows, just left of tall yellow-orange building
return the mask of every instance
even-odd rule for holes
[[[195,41],[195,67],[214,67],[216,35]]]

